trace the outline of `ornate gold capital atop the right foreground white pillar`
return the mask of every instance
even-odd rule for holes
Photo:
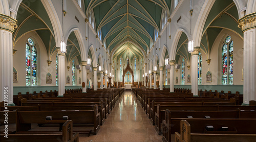
[[[245,15],[238,20],[238,23],[238,28],[240,28],[242,32],[256,28],[256,12]]]

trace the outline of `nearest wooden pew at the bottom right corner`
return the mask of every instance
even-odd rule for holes
[[[214,133],[194,133],[191,131],[191,127],[197,126],[190,126],[190,124],[186,120],[181,120],[180,122],[180,133],[175,132],[175,142],[195,142],[195,141],[232,141],[232,142],[254,142],[256,139],[256,134],[232,134],[227,133],[226,131],[215,131]],[[246,129],[246,128],[245,128]],[[192,133],[193,132],[193,133]],[[229,131],[230,132],[230,131]],[[167,141],[163,138],[163,141]]]

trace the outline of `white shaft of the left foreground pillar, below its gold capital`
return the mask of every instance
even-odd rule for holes
[[[2,18],[0,16],[0,18]],[[0,21],[1,22],[1,21]],[[2,27],[1,27],[2,28]],[[5,106],[14,105],[13,103],[13,59],[12,59],[12,32],[8,30],[0,30],[0,48],[1,48],[1,98]],[[24,69],[25,70],[25,69]],[[20,72],[19,72],[20,73]],[[21,80],[21,79],[20,79]]]

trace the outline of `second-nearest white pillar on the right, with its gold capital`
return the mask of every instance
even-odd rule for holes
[[[194,48],[191,53],[191,92],[194,96],[198,96],[198,54],[200,47]]]

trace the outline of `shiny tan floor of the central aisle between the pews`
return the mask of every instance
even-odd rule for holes
[[[97,135],[79,135],[79,141],[162,141],[137,104],[132,91],[125,91]]]

